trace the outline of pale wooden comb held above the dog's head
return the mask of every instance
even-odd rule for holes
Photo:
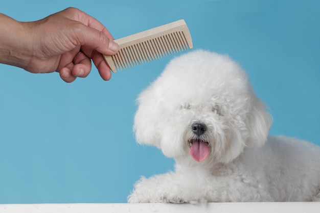
[[[115,42],[119,44],[118,53],[103,55],[112,72],[193,47],[188,26],[183,19],[116,39]]]

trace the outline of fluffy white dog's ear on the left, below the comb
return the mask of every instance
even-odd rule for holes
[[[152,95],[153,94],[153,95]],[[135,113],[133,130],[135,139],[140,144],[154,145],[160,148],[160,135],[158,134],[159,113],[158,101],[154,96],[152,87],[143,91],[138,98],[138,110]]]

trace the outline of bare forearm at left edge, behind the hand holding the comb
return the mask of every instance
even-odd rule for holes
[[[0,63],[27,67],[32,52],[27,24],[0,13]]]

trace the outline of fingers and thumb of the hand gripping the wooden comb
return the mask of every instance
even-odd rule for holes
[[[61,61],[64,60],[62,64],[70,63],[70,61],[73,63],[67,66],[60,65],[63,67],[59,70],[60,77],[65,82],[73,82],[76,77],[86,77],[92,68],[90,61],[92,59],[102,79],[109,80],[111,72],[104,61],[103,54],[115,55],[119,50],[119,45],[113,41],[109,31],[97,19],[76,8],[67,8],[61,11],[61,14],[75,21],[73,22],[74,31],[68,35],[70,41],[77,44],[82,52],[75,55],[77,52],[72,50],[70,55],[75,56],[74,59],[70,59],[70,55],[61,57]]]

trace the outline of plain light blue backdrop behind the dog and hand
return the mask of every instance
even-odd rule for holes
[[[21,1],[0,12],[33,21],[77,7],[121,38],[185,19],[194,48],[228,54],[270,108],[272,135],[320,144],[319,1]],[[23,33],[23,32],[21,32]],[[174,56],[66,84],[58,73],[0,65],[0,203],[126,202],[140,175],[173,159],[135,143],[135,99]]]

